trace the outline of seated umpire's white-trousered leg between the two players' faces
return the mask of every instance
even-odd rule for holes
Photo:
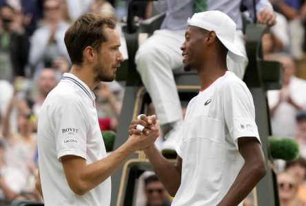
[[[135,61],[161,124],[177,122],[182,111],[173,69],[182,67],[184,31],[158,30],[139,47]]]

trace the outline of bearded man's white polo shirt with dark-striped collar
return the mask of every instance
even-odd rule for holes
[[[37,139],[46,206],[110,205],[110,178],[79,196],[68,186],[60,161],[65,155],[76,155],[90,164],[106,157],[94,99],[84,82],[64,73],[41,106]]]

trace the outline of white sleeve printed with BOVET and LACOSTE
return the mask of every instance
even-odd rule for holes
[[[88,117],[81,100],[72,97],[62,98],[55,112],[55,142],[57,157],[75,155],[86,159],[86,134]]]

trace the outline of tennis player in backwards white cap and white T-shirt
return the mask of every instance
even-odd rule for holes
[[[252,95],[226,67],[227,54],[236,62],[244,58],[234,45],[236,24],[223,12],[208,11],[194,14],[187,25],[183,64],[198,72],[201,91],[176,137],[176,164],[154,145],[144,151],[174,196],[172,205],[242,205],[266,168]]]

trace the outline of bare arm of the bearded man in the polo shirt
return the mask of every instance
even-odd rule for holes
[[[156,137],[158,135],[153,132],[150,135],[132,135],[125,144],[108,157],[89,165],[81,157],[74,155],[61,157],[70,189],[78,195],[83,195],[92,190],[105,179],[108,179],[129,155],[132,155],[136,150],[154,144]]]

